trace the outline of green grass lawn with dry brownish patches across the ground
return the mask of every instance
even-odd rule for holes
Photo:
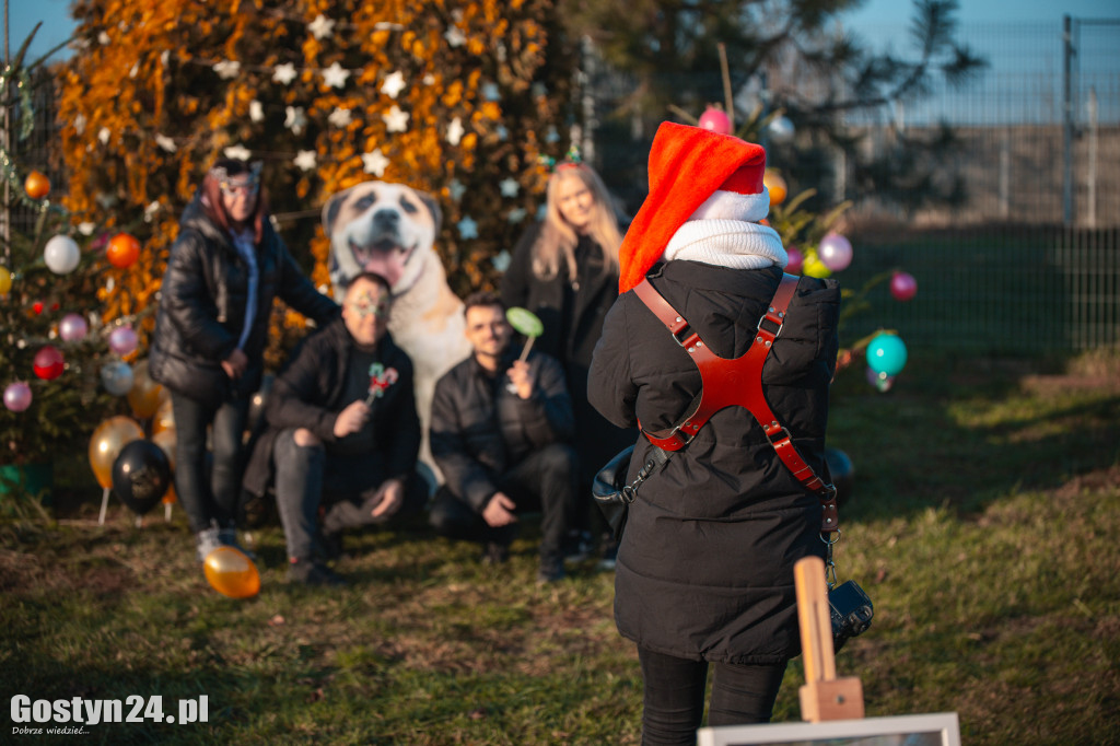
[[[1120,743],[1117,360],[917,355],[887,394],[849,370],[830,442],[856,465],[840,579],[876,607],[837,668],[859,677],[867,716],[955,711],[968,744]],[[581,567],[538,588],[533,526],[496,570],[468,544],[366,534],[343,590],[288,585],[268,526],[263,589],[239,602],[207,586],[181,512],[137,529],[114,501],[99,528],[84,460],[56,483],[84,495],[68,520],[0,524],[4,703],[209,701],[207,724],[87,726],[83,743],[640,740],[613,576]],[[800,719],[802,683],[796,661],[776,720]]]

